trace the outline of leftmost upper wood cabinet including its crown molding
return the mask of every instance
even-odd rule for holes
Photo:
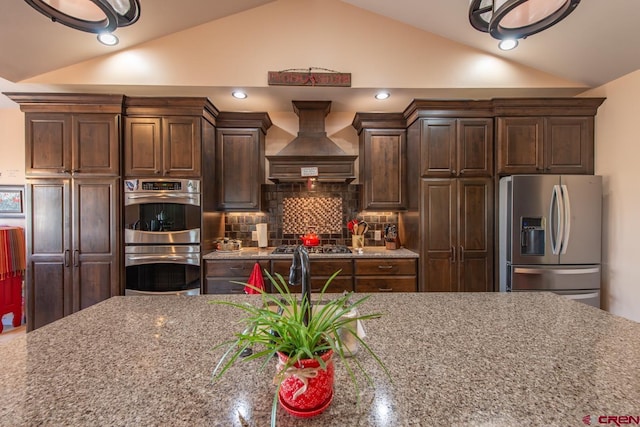
[[[28,177],[120,175],[123,96],[9,95],[25,112]]]

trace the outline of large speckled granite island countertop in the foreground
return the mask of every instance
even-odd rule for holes
[[[275,360],[211,372],[241,313],[208,300],[113,297],[0,345],[2,426],[267,426]],[[578,426],[640,415],[640,324],[550,293],[373,294],[363,351],[375,388],[279,426]]]

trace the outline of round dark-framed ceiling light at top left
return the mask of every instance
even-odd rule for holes
[[[95,34],[111,33],[140,17],[139,0],[24,1],[53,22]]]

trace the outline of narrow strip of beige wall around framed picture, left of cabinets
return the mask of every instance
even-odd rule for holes
[[[24,114],[0,109],[0,185],[24,185]],[[0,225],[24,227],[22,218],[0,218]]]

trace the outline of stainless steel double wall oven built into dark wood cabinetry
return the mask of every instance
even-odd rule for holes
[[[199,180],[125,180],[125,294],[199,294],[200,221]]]

